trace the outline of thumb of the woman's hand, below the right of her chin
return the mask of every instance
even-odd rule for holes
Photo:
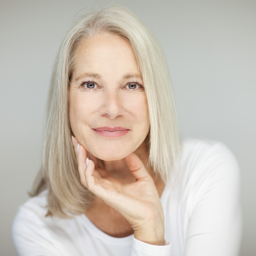
[[[152,179],[146,170],[143,162],[139,159],[139,157],[135,153],[131,153],[127,157],[125,157],[126,164],[131,171],[131,173],[135,176],[137,180],[139,179]]]

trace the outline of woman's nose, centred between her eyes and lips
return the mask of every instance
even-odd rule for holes
[[[109,90],[104,92],[103,101],[99,109],[99,113],[102,116],[107,116],[110,119],[115,119],[118,116],[122,116],[125,113],[122,105],[122,100],[118,91]]]

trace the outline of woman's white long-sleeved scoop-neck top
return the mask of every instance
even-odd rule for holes
[[[47,191],[21,205],[12,225],[20,256],[236,256],[241,238],[240,177],[222,143],[187,139],[173,189],[161,195],[166,245],[116,238],[82,214],[45,217]]]

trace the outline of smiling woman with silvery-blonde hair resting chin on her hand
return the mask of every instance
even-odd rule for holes
[[[60,48],[32,195],[13,222],[19,255],[239,252],[236,159],[180,143],[161,47],[119,6],[81,18]]]

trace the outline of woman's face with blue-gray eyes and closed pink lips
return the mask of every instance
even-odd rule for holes
[[[105,33],[80,42],[69,95],[72,131],[95,157],[122,159],[145,140],[149,116],[143,80],[124,38]]]

